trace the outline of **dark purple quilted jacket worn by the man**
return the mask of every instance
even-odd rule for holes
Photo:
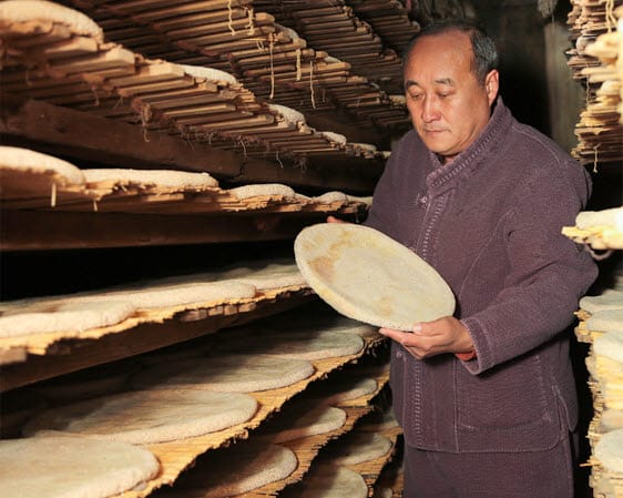
[[[416,131],[401,139],[366,224],[437,268],[478,355],[418,360],[392,344],[395,410],[410,446],[540,450],[556,444],[561,419],[575,426],[568,327],[598,270],[561,228],[590,192],[584,169],[501,99],[451,164]]]

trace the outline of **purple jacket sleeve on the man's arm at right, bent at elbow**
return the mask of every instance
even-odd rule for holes
[[[473,374],[565,331],[596,277],[591,255],[561,233],[585,206],[590,177],[575,163],[558,166],[540,170],[503,214],[511,271],[487,308],[461,319],[476,345],[477,359],[464,364]]]

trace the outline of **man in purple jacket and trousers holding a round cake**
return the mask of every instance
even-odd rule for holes
[[[578,402],[569,325],[596,276],[561,235],[586,172],[498,95],[494,43],[430,24],[405,59],[415,130],[392,152],[366,222],[452,288],[455,316],[392,339],[405,498],[571,498]],[[335,221],[335,220],[329,220]]]

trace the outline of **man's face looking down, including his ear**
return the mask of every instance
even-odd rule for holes
[[[460,31],[419,39],[405,65],[407,108],[425,144],[451,162],[484,130],[498,94],[498,71],[479,83],[469,35]]]

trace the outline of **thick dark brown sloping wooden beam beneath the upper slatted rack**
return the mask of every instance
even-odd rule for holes
[[[361,157],[326,161],[309,157],[305,167],[274,156],[266,161],[190,144],[164,131],[145,130],[122,121],[60,108],[47,102],[2,95],[0,140],[4,145],[31,146],[100,167],[171,169],[207,172],[232,183],[279,182],[321,190],[369,194],[384,163]],[[88,130],[88,133],[85,133]]]

